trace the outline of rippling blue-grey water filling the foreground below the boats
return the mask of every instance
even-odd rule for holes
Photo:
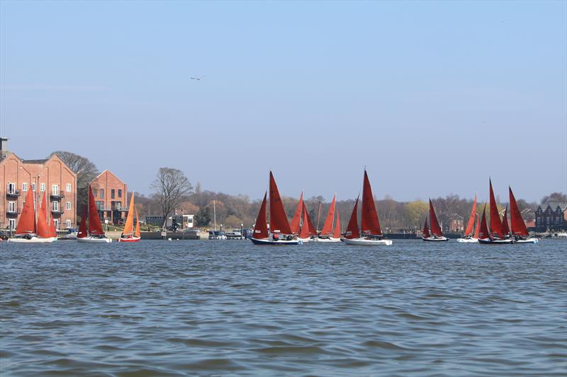
[[[0,244],[1,376],[565,376],[567,242]]]

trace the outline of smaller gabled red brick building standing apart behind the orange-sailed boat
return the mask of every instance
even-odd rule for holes
[[[128,215],[128,185],[108,169],[94,178],[90,185],[101,221],[122,224]]]

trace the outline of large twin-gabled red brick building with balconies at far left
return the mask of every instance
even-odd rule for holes
[[[16,228],[28,190],[36,210],[45,192],[55,228],[75,227],[77,175],[57,156],[23,160],[7,150],[7,143],[0,138],[0,228]]]

